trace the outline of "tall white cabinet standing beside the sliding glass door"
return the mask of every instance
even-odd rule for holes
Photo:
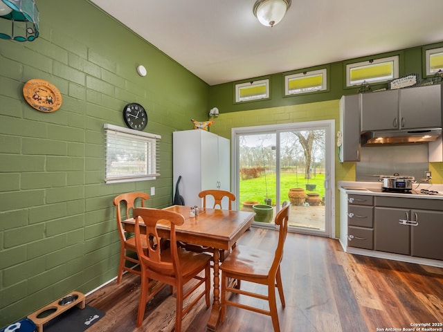
[[[181,176],[179,193],[185,205],[201,206],[201,190],[230,190],[230,146],[227,138],[201,129],[174,131],[172,138],[173,185],[175,188]],[[207,201],[206,204],[212,203]],[[222,208],[227,208],[227,202]]]

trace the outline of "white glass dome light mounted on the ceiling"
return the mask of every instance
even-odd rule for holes
[[[291,0],[257,0],[253,12],[264,26],[278,24],[291,7]]]

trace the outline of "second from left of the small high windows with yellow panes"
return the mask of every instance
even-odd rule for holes
[[[308,93],[327,89],[326,68],[284,76],[284,95]]]

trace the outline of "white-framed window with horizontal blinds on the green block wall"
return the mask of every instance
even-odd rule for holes
[[[153,180],[161,136],[105,124],[106,183]]]

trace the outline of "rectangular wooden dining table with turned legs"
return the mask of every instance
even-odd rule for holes
[[[230,250],[242,234],[251,227],[254,221],[254,212],[217,210],[199,208],[199,214],[190,217],[190,206],[172,205],[164,210],[178,212],[185,217],[183,225],[176,226],[177,241],[193,243],[200,246],[208,246],[219,250]],[[127,232],[134,232],[134,219],[122,221]],[[162,232],[162,229],[164,232]],[[170,227],[168,223],[159,223],[159,236],[169,237]],[[143,232],[143,229],[141,230]],[[208,330],[216,331],[220,322],[220,252],[213,250],[214,260],[214,300],[208,320]]]

